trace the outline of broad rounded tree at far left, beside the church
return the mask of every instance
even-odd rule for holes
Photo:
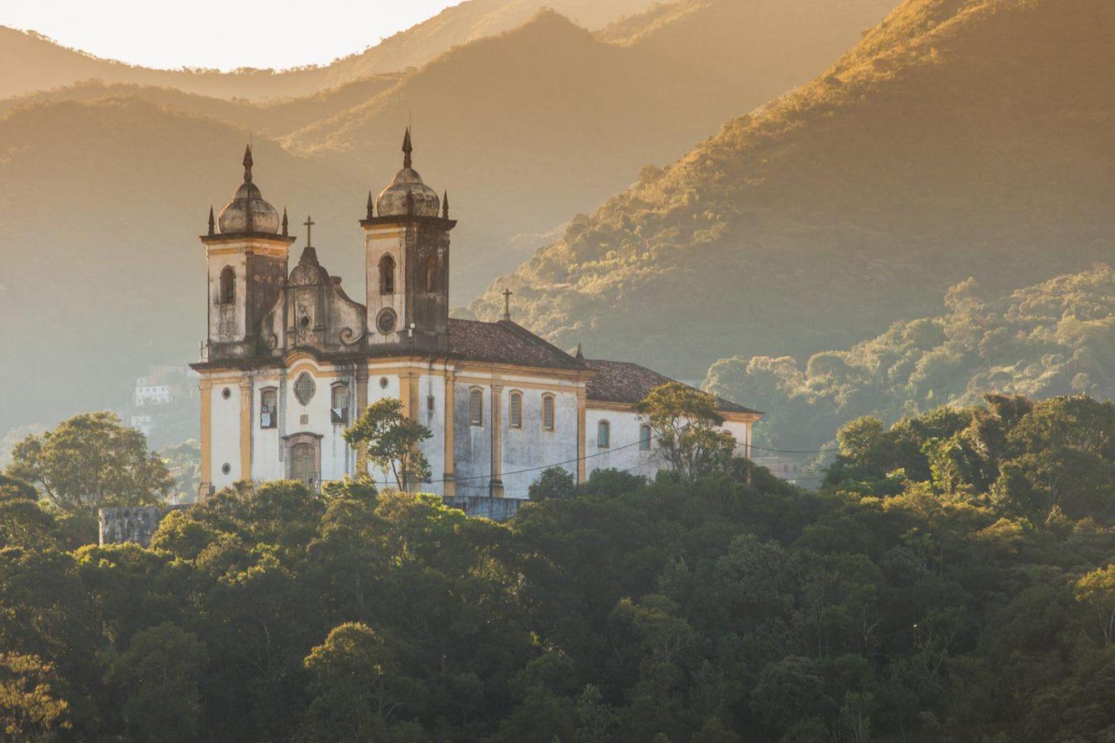
[[[144,435],[114,413],[85,413],[12,450],[11,477],[35,485],[64,513],[96,517],[106,505],[151,505],[173,480]]]

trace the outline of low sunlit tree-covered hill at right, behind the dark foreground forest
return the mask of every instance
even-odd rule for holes
[[[1115,398],[1115,271],[1106,264],[1011,292],[968,279],[942,312],[847,350],[721,359],[706,387],[766,412],[765,445],[818,448],[853,418],[894,423],[987,393]]]

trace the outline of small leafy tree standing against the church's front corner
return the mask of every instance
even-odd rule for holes
[[[432,437],[429,428],[403,414],[403,402],[385,397],[368,406],[345,432],[352,447],[367,447],[368,460],[390,470],[399,490],[429,480],[429,462],[419,444]]]

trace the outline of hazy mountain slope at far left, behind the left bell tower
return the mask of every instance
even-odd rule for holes
[[[244,133],[138,102],[66,102],[0,119],[0,142],[19,143],[0,153],[0,430],[122,405],[148,364],[194,360],[197,235],[240,185]],[[304,234],[307,212],[319,222],[327,268],[362,251],[371,176],[346,180],[262,137],[254,149],[255,182],[291,209],[291,232]],[[362,298],[362,282],[350,289]]]

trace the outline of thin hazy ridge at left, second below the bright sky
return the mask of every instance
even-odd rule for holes
[[[46,102],[76,100],[96,103],[109,99],[138,99],[175,110],[209,116],[261,134],[283,135],[320,118],[345,110],[396,85],[399,75],[378,75],[327,88],[301,98],[280,99],[254,104],[246,100],[226,100],[183,93],[175,88],[85,81],[62,88],[0,100],[0,116],[25,106]]]

